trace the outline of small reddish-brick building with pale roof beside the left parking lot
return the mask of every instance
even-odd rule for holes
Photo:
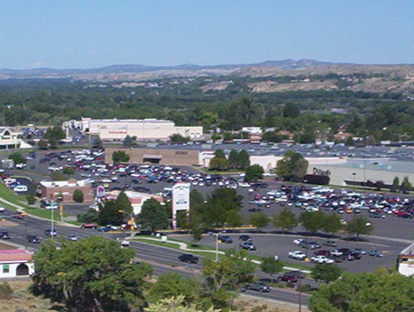
[[[40,182],[42,198],[56,199],[59,194],[63,196],[63,203],[73,203],[73,193],[79,189],[83,193],[84,203],[91,203],[94,194],[90,182],[87,180],[70,179],[68,181],[43,181]]]

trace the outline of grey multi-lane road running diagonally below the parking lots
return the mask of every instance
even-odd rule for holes
[[[2,215],[4,216],[11,216],[15,214],[12,211],[6,210]],[[2,217],[0,215],[0,218]],[[55,217],[58,217],[58,213],[55,212]],[[41,238],[42,240],[48,239],[44,235],[45,229],[49,229],[51,226],[49,221],[36,219],[32,217],[25,217],[26,219],[14,219],[14,218],[6,218],[14,222],[15,224],[9,225],[9,222],[0,222],[0,230],[1,231],[8,231],[12,239],[10,240],[11,243],[18,244],[24,246],[26,244],[26,230],[25,230],[25,223],[27,221],[27,233],[29,235],[36,235]],[[8,224],[8,225],[6,225]],[[70,227],[70,226],[62,226],[55,224],[54,229],[57,231],[58,237],[66,237],[68,235],[76,235],[80,239],[88,238],[90,236],[101,236],[107,239],[116,239],[121,237],[127,237],[128,233],[122,234],[114,234],[110,232],[99,232],[97,230],[91,229],[81,229],[79,227]],[[7,243],[8,241],[5,241]],[[40,245],[38,244],[31,244],[27,243],[27,249],[30,251],[36,251]],[[146,261],[153,265],[154,267],[154,276],[159,276],[160,274],[166,271],[175,271],[179,272],[183,277],[196,277],[200,275],[200,270],[202,269],[202,261],[197,264],[188,264],[184,262],[178,261],[178,256],[183,252],[153,246],[145,243],[139,243],[131,241],[130,248],[136,251],[136,260],[137,261]],[[202,258],[201,256],[199,256]],[[269,278],[269,275],[263,274],[260,270],[256,270],[255,274],[259,278]],[[277,278],[278,275],[274,275],[273,278]],[[312,287],[316,286],[316,283],[310,279],[302,280],[303,284],[309,284]],[[298,303],[298,292],[291,290],[291,289],[272,289],[269,293],[260,293],[256,291],[248,290],[246,292],[250,295],[255,295],[257,297],[268,298],[272,300],[278,300],[283,302],[289,303]],[[307,305],[308,294],[302,294],[302,304]]]

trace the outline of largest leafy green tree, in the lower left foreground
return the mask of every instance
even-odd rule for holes
[[[97,236],[76,244],[61,240],[59,249],[46,241],[33,256],[33,289],[75,312],[122,311],[143,299],[144,279],[152,274],[149,264],[136,265],[134,257],[134,250]]]

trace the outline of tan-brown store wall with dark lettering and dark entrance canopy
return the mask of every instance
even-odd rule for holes
[[[129,155],[129,163],[144,164],[144,155],[159,155],[160,165],[192,166],[199,164],[198,150],[154,149],[154,148],[105,148],[105,163],[112,164],[112,154],[123,150]]]

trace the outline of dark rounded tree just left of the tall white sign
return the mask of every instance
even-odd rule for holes
[[[149,227],[155,232],[168,227],[168,216],[164,207],[155,199],[150,198],[141,207],[141,213],[137,215],[143,228]]]

